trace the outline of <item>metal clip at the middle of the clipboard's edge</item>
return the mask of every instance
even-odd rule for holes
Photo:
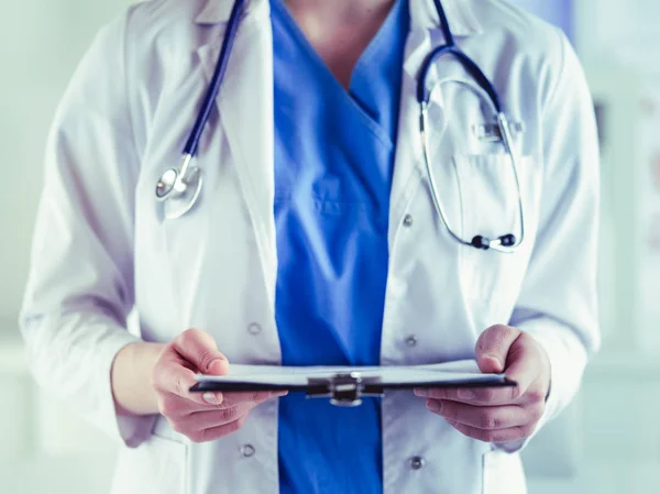
[[[382,397],[383,386],[380,377],[363,376],[360,372],[337,374],[328,377],[309,377],[310,388],[307,398],[330,398],[330,403],[341,407],[362,405],[363,397]]]

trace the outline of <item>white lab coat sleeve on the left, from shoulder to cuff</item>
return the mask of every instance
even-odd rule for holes
[[[21,331],[36,381],[135,446],[154,417],[118,417],[110,385],[116,354],[139,341],[127,330],[139,173],[123,63],[128,19],[99,33],[57,110]]]

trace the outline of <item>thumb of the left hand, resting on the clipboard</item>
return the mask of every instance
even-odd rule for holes
[[[218,351],[213,338],[199,329],[184,331],[174,342],[175,350],[193,366],[196,372],[211,375],[229,373],[227,358]]]

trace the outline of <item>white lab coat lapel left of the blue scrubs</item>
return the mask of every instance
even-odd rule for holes
[[[271,301],[275,298],[276,250],[273,217],[273,41],[267,1],[252,1],[243,14],[217,98],[241,191],[264,270]],[[202,46],[199,58],[210,80],[223,35]]]

